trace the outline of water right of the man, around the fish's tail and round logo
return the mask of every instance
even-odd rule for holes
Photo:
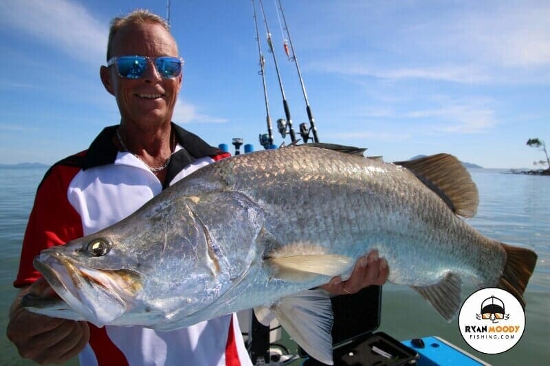
[[[441,336],[492,365],[549,365],[550,176],[504,174],[506,170],[494,169],[469,171],[478,187],[479,207],[468,224],[489,238],[538,254],[524,294],[527,306],[522,338],[502,354],[476,352],[462,339],[456,319],[445,322],[414,290],[393,285],[384,286],[380,330],[401,341]],[[463,300],[474,290],[465,284]]]

